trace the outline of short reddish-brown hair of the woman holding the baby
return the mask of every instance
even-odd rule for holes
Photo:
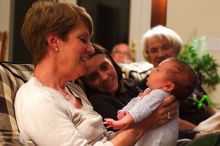
[[[47,35],[54,33],[66,41],[68,34],[83,22],[93,33],[91,16],[84,8],[70,3],[37,1],[25,16],[21,30],[23,41],[36,65],[47,52]]]

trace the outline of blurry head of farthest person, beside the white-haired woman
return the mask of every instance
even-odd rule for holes
[[[116,44],[111,51],[111,56],[117,63],[133,62],[130,48],[125,43]]]

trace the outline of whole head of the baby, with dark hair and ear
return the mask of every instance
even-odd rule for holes
[[[197,85],[197,77],[188,64],[176,58],[168,58],[151,70],[147,85],[150,89],[161,88],[170,92],[182,101],[192,94]]]

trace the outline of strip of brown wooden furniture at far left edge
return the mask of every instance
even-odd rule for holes
[[[6,61],[6,40],[7,40],[7,33],[6,31],[0,31],[0,61]]]

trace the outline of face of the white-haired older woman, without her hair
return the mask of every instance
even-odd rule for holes
[[[177,55],[177,51],[166,40],[156,37],[148,40],[148,58],[154,67],[157,67],[163,60],[177,57]]]

